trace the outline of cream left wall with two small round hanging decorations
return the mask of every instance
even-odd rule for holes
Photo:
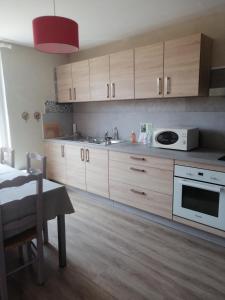
[[[16,151],[16,166],[25,166],[25,153],[42,153],[42,122],[33,118],[43,112],[44,102],[55,98],[54,67],[68,61],[65,55],[43,54],[33,48],[12,45],[2,50],[3,72],[9,113],[12,147]],[[21,113],[30,113],[25,122]]]

